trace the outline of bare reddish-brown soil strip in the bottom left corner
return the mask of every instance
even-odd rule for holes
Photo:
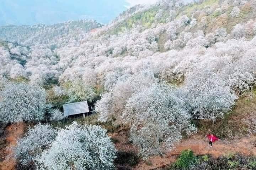
[[[2,162],[0,162],[0,170],[14,170],[16,161],[14,158],[8,157],[11,154],[11,151],[8,148],[15,146],[17,138],[24,134],[25,124],[11,124],[7,126],[5,130],[6,142],[8,145],[6,148],[0,149],[1,158],[4,159]]]

